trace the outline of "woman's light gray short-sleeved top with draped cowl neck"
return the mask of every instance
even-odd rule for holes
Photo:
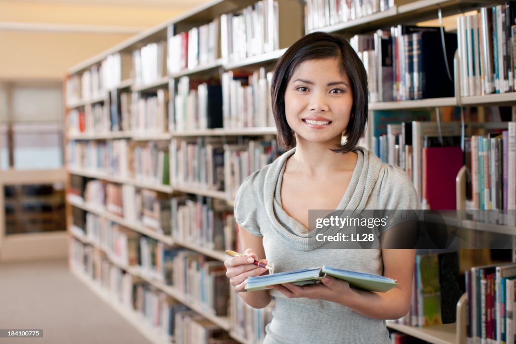
[[[337,209],[419,209],[405,171],[386,165],[362,147],[354,150],[357,165]],[[318,249],[321,242],[281,206],[285,162],[295,148],[251,174],[238,190],[235,219],[251,234],[263,237],[267,260],[275,272],[327,265],[337,269],[383,274],[380,249]],[[244,248],[245,249],[245,248]],[[264,343],[390,343],[384,320],[364,317],[324,300],[288,299],[277,290],[272,321]]]

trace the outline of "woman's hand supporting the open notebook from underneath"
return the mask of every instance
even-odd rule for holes
[[[353,296],[354,291],[346,281],[325,276],[321,284],[298,286],[293,283],[284,283],[271,286],[283,293],[287,298],[309,298],[336,302],[345,305],[346,300]]]

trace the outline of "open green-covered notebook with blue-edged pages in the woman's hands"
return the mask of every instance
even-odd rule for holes
[[[322,266],[319,268],[299,269],[270,275],[248,277],[246,280],[246,290],[269,289],[271,285],[282,283],[294,283],[297,285],[321,283],[320,280],[325,275],[344,280],[354,288],[370,291],[385,292],[398,285],[395,280],[388,277]]]

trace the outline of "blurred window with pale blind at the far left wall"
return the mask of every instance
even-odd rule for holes
[[[58,169],[63,165],[60,82],[0,83],[0,168]]]

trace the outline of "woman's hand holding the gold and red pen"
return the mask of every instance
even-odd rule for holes
[[[224,260],[226,276],[228,276],[229,282],[235,287],[236,291],[246,291],[245,280],[247,277],[259,276],[267,271],[267,269],[252,264],[254,259],[259,260],[252,249],[246,249],[244,255],[246,257],[229,257]],[[260,259],[259,261],[267,264],[267,259]]]

